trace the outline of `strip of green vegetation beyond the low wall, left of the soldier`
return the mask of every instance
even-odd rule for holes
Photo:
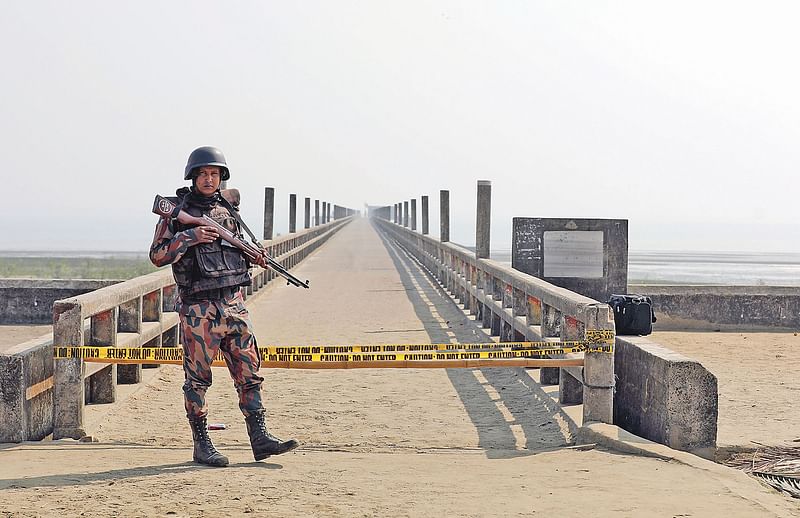
[[[0,257],[4,279],[132,279],[156,271],[146,257]]]

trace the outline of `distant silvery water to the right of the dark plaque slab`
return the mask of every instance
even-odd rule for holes
[[[511,264],[511,250],[492,259]],[[800,286],[800,254],[631,251],[628,283]]]

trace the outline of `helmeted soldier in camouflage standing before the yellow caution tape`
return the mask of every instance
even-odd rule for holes
[[[184,180],[192,187],[177,191],[177,205],[193,216],[209,215],[228,230],[241,235],[238,214],[239,193],[220,190],[230,178],[222,152],[214,147],[192,151]],[[176,211],[177,213],[177,211]],[[282,441],[271,435],[264,423],[261,359],[250,316],[240,288],[251,284],[245,256],[221,240],[214,227],[188,228],[177,220],[159,220],[150,260],[156,266],[172,265],[178,286],[176,309],[183,335],[183,384],[186,416],[192,428],[194,461],[210,466],[227,466],[208,435],[206,390],[211,386],[211,362],[222,351],[239,393],[239,408],[245,416],[250,445],[256,460],[293,450],[297,441]],[[265,266],[262,262],[261,266]]]

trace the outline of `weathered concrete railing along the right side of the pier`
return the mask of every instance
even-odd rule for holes
[[[501,341],[582,340],[586,330],[614,330],[606,304],[496,261],[477,259],[475,252],[406,226],[382,218],[372,221]],[[543,368],[541,381],[559,384],[562,403],[583,402],[584,424],[613,422],[613,354],[585,353],[583,367]]]

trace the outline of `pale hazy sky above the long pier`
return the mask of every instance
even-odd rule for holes
[[[353,208],[451,191],[511,218],[630,220],[631,250],[800,251],[796,2],[21,2],[0,7],[0,249],[146,250],[216,145]],[[313,203],[313,201],[312,201]],[[302,224],[302,215],[298,216]]]

